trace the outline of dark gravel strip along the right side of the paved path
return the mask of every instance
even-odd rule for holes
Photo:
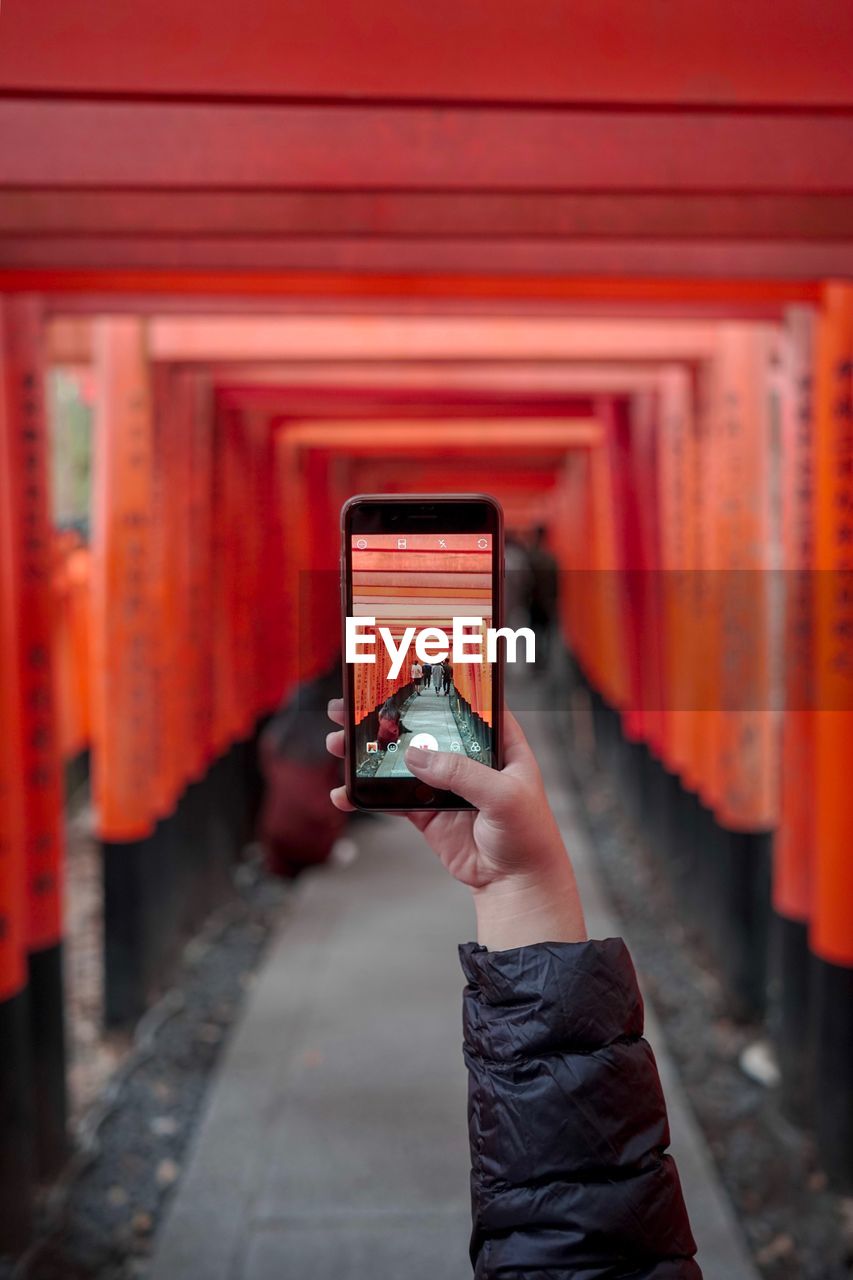
[[[578,795],[634,963],[757,1266],[767,1280],[850,1280],[853,1201],[826,1188],[811,1135],[785,1120],[772,1089],[740,1070],[742,1051],[763,1028],[726,1016],[713,965],[680,924],[660,865],[608,777],[588,765]]]

